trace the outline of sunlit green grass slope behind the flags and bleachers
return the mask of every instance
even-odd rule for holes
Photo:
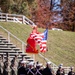
[[[32,31],[29,25],[7,22],[0,22],[0,25],[24,42]],[[38,30],[44,31],[41,28],[38,28]],[[2,32],[0,29],[0,33]],[[64,66],[75,67],[75,32],[49,30],[47,41],[48,51],[45,53],[45,57],[56,65],[63,63]],[[39,55],[36,55],[36,60],[44,61]]]

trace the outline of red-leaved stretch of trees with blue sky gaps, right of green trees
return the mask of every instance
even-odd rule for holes
[[[38,0],[36,13],[39,27],[75,31],[75,0]]]

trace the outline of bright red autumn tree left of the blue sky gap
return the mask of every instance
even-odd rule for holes
[[[34,22],[38,27],[46,28],[50,23],[50,1],[49,0],[37,0],[38,6],[35,11]]]

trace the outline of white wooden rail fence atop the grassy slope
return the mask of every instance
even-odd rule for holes
[[[28,25],[35,25],[30,19],[28,19],[24,15],[16,15],[16,14],[8,14],[8,13],[0,13],[0,21],[6,22],[18,22]]]

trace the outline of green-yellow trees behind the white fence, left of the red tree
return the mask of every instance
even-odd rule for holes
[[[31,17],[31,8],[35,0],[0,0],[0,7],[4,13],[22,14]]]

